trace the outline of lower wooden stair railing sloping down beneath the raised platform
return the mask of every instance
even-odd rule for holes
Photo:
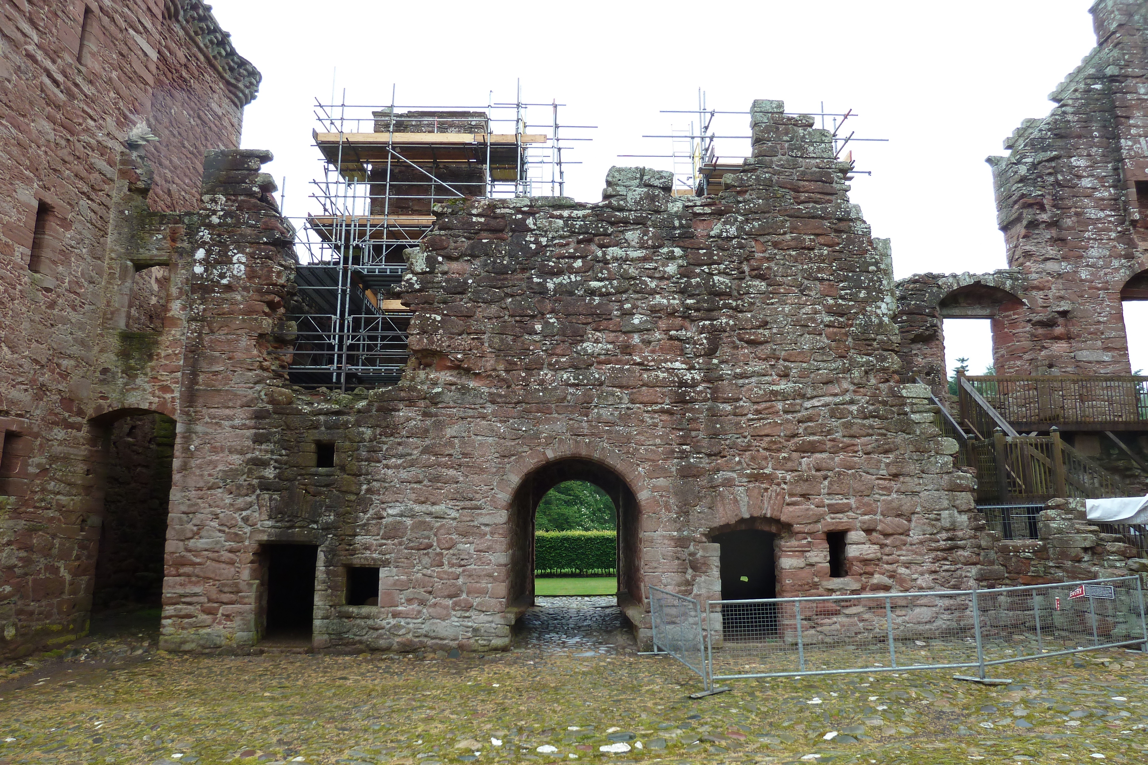
[[[1023,505],[1055,497],[1122,497],[1119,478],[1050,436],[1006,436],[998,429],[985,440],[970,442],[977,468],[978,505]]]

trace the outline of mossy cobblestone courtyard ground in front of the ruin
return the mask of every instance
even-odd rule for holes
[[[698,677],[638,656],[608,600],[554,600],[513,651],[459,658],[165,654],[125,618],[0,668],[0,765],[1148,762],[1143,654],[1011,664],[1002,687],[929,671],[695,701]]]

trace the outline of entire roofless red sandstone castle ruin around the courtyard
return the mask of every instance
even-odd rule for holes
[[[706,194],[614,167],[597,203],[366,211],[427,220],[355,276],[356,300],[402,314],[403,361],[338,387],[308,376],[301,329],[325,276],[296,255],[270,153],[236,148],[259,75],[208,8],[0,8],[0,655],[114,602],[162,603],[170,650],[277,629],[504,649],[533,603],[534,512],[569,479],[614,501],[642,642],[647,587],[720,598],[737,533],[763,540],[763,596],[1138,570],[1083,518],[1025,536],[983,508],[1148,491],[1148,377],[1120,319],[1148,299],[1143,1],[1096,2],[1095,50],[990,159],[1008,270],[894,282],[830,132],[758,100],[750,156]],[[374,131],[389,151],[418,133],[503,151],[475,119],[379,112]],[[992,319],[999,375],[959,397],[955,317]],[[1055,443],[1068,467],[1029,485],[994,443]]]

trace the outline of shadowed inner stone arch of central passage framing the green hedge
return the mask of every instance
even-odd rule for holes
[[[641,608],[642,545],[638,502],[626,481],[592,460],[571,458],[546,463],[519,484],[510,505],[507,606],[519,614],[534,604],[535,528],[540,502],[559,484],[582,482],[600,489],[616,513],[616,602],[628,616]],[[630,616],[631,622],[635,619]]]

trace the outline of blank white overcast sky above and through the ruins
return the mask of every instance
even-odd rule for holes
[[[567,104],[560,122],[597,125],[567,154],[567,195],[600,198],[614,164],[670,169],[668,140],[684,127],[698,89],[707,104],[747,110],[781,99],[788,111],[853,109],[850,130],[887,143],[854,145],[852,200],[874,236],[891,237],[898,278],[1002,268],[992,177],[985,157],[1025,117],[1042,117],[1047,94],[1092,49],[1091,0],[757,0],[658,2],[579,0],[214,0],[241,55],[263,72],[247,108],[245,148],[271,149],[286,177],[286,211],[310,205],[318,170],[312,104]],[[542,115],[538,115],[541,117]],[[537,118],[532,115],[532,118]],[[723,134],[745,135],[748,118]],[[369,128],[367,128],[369,130]],[[568,134],[574,134],[569,131]],[[740,145],[740,150],[739,146]],[[747,153],[747,141],[722,145]],[[1126,304],[1127,306],[1128,304]],[[1133,368],[1148,368],[1148,303],[1132,304]],[[1139,309],[1139,310],[1138,310]],[[947,321],[949,359],[991,362],[984,321]],[[952,366],[952,361],[951,361]]]

